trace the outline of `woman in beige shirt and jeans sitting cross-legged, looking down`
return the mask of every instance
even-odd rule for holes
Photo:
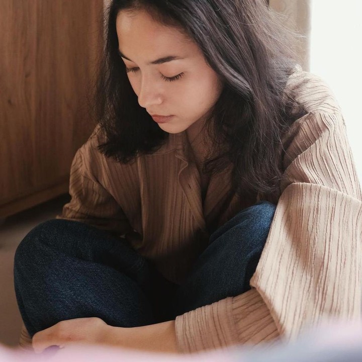
[[[71,201],[16,252],[37,351],[194,352],[360,316],[344,120],[284,34],[262,0],[111,3]]]

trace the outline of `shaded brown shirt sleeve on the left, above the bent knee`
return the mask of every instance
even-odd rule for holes
[[[105,161],[94,145],[96,132],[97,128],[73,158],[69,179],[71,200],[56,218],[87,223],[123,235],[131,228],[121,206],[100,180]]]

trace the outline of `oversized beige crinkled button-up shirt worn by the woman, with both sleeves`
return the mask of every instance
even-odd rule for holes
[[[194,352],[278,336],[291,339],[325,317],[359,318],[362,196],[340,109],[330,89],[297,68],[286,89],[308,114],[283,138],[283,180],[255,200],[230,193],[230,170],[211,177],[204,203],[186,132],[170,134],[152,155],[121,164],[97,151],[94,137],[77,151],[71,201],[60,218],[141,234],[133,247],[168,280],[181,284],[213,228],[259,200],[277,204],[252,289],[176,318],[179,350]]]

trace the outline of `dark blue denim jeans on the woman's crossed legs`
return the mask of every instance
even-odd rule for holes
[[[217,229],[182,285],[166,280],[124,239],[77,221],[45,221],[15,253],[24,324],[31,337],[61,320],[83,317],[136,327],[244,293],[275,208],[260,201]]]

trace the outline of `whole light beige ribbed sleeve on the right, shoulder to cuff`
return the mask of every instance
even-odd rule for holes
[[[281,196],[246,293],[176,317],[180,351],[293,339],[360,318],[362,197],[339,112],[310,113],[285,142]]]

